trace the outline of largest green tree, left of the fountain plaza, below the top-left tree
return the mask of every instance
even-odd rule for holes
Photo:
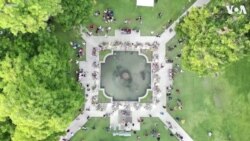
[[[83,102],[70,75],[71,48],[44,31],[0,42],[0,119],[15,125],[12,140],[58,140]]]

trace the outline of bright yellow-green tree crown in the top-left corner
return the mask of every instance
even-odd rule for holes
[[[61,0],[0,0],[0,28],[13,34],[44,29],[51,16],[62,12]]]

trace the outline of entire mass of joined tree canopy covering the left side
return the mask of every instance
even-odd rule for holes
[[[74,50],[54,29],[81,25],[91,8],[92,0],[0,0],[1,141],[58,140],[79,113]]]

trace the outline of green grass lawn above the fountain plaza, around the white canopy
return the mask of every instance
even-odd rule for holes
[[[152,7],[137,7],[136,0],[96,0],[94,11],[99,10],[101,15],[98,17],[93,15],[90,17],[87,26],[94,24],[102,27],[112,27],[112,29],[120,29],[124,27],[132,29],[140,29],[142,35],[149,35],[151,31],[161,33],[168,24],[179,17],[185,9],[187,9],[195,0],[158,0]],[[105,23],[102,13],[105,9],[111,8],[114,11],[116,21],[113,23]],[[158,13],[162,12],[162,18],[158,18]],[[138,16],[142,16],[142,24],[136,21]],[[130,24],[124,21],[129,19]],[[113,32],[112,30],[112,32]],[[111,32],[111,34],[113,34]]]

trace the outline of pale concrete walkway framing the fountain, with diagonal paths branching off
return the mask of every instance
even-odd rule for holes
[[[158,117],[161,121],[168,127],[168,129],[175,135],[177,135],[178,140],[182,141],[193,141],[193,139],[183,130],[183,128],[174,120],[174,118],[166,111],[163,106],[166,106],[166,87],[172,85],[172,79],[169,77],[169,70],[172,69],[172,64],[166,63],[165,61],[165,44],[175,36],[176,32],[174,29],[176,24],[178,24],[179,19],[182,18],[192,7],[199,7],[207,4],[210,0],[197,0],[186,12],[184,12],[173,24],[165,30],[165,32],[160,37],[155,36],[140,36],[140,33],[132,32],[129,35],[121,34],[120,31],[115,31],[115,36],[88,36],[83,34],[82,37],[86,41],[86,62],[80,61],[79,67],[86,73],[86,77],[80,79],[81,84],[85,87],[85,109],[82,114],[77,116],[77,118],[72,121],[67,130],[67,134],[61,137],[61,141],[69,140],[84,124],[88,121],[90,117],[111,117],[111,123],[115,123],[113,120],[116,116],[116,111],[121,109],[130,109],[134,119],[139,119],[141,117]],[[160,80],[157,83],[152,83],[151,88],[156,85],[159,87],[160,92],[153,92],[153,103],[151,104],[140,104],[139,108],[135,108],[135,102],[111,102],[106,104],[97,103],[97,97],[99,92],[100,84],[100,66],[93,66],[94,63],[99,62],[99,53],[93,55],[93,49],[99,49],[99,45],[103,43],[108,43],[107,48],[112,48],[114,50],[137,50],[141,48],[124,48],[123,46],[113,48],[112,43],[119,41],[122,43],[130,42],[136,44],[138,42],[143,43],[141,48],[150,49],[145,43],[153,44],[155,42],[159,43],[157,49],[153,51],[157,58],[154,58],[152,63],[162,65],[162,68],[157,72],[152,72],[152,75],[160,76]],[[97,50],[98,52],[98,50]],[[97,74],[96,78],[93,79],[92,74]],[[152,81],[155,81],[154,78]],[[95,89],[91,87],[95,86]],[[88,90],[89,88],[89,90]],[[118,105],[118,106],[117,106]],[[118,107],[118,108],[114,108]],[[133,120],[135,126],[132,127],[133,130],[140,130],[140,123],[137,120]],[[181,137],[180,137],[181,136]]]

